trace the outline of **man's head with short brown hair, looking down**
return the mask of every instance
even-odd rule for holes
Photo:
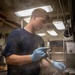
[[[39,30],[49,20],[49,15],[44,9],[37,8],[32,12],[31,21],[32,20],[34,29]]]

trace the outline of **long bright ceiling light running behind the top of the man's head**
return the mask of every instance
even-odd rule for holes
[[[47,5],[47,6],[35,7],[35,8],[27,9],[27,10],[18,11],[18,12],[15,12],[15,14],[19,17],[30,16],[32,11],[36,8],[42,8],[42,9],[46,10],[47,12],[53,11],[51,5]]]

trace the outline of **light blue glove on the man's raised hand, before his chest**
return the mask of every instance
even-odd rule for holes
[[[33,54],[31,54],[32,61],[38,61],[41,58],[46,56],[47,47],[40,47],[34,50]]]

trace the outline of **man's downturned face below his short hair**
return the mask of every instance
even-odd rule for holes
[[[34,28],[35,28],[36,30],[42,29],[45,24],[46,24],[45,18],[36,17],[35,20],[34,20]]]

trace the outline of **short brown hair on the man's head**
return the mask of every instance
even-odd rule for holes
[[[31,18],[32,17],[42,17],[45,18],[46,20],[49,20],[49,14],[42,8],[37,8],[32,12]]]

